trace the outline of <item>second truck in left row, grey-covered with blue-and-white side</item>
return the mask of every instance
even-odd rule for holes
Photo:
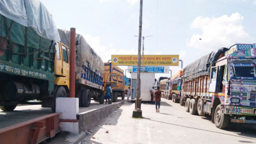
[[[60,42],[69,45],[70,31],[58,29],[58,32],[60,34]],[[81,34],[76,34],[75,40],[75,97],[79,98],[79,105],[82,107],[90,106],[91,100],[99,101],[100,104],[103,104],[104,63],[100,56],[86,43]],[[58,62],[58,58],[56,62]]]

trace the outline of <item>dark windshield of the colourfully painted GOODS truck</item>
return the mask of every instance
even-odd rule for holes
[[[235,77],[255,77],[254,63],[233,63]]]

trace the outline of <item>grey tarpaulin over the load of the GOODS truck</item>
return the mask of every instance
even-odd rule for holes
[[[213,59],[214,52],[211,52],[202,58],[192,62],[187,65],[183,71],[183,77],[185,82],[189,80],[193,80],[196,77],[200,77],[201,75],[209,75],[211,66],[211,60]]]

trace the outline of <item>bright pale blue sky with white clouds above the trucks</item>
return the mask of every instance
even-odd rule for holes
[[[58,28],[75,27],[103,62],[138,54],[139,0],[40,1]],[[142,36],[151,36],[144,54],[179,55],[184,68],[221,47],[256,43],[255,13],[256,0],[144,0]],[[172,74],[179,69],[181,62],[170,67]]]

